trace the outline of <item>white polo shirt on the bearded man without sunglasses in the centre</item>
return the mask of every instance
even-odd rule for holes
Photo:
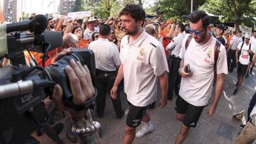
[[[129,35],[125,35],[120,59],[127,100],[134,106],[148,106],[156,101],[157,77],[169,72],[163,45],[145,31],[133,43],[129,43]]]

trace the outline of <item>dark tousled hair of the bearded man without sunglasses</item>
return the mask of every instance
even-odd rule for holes
[[[142,20],[142,26],[144,25],[144,21],[146,19],[146,12],[142,8],[142,6],[139,6],[138,4],[127,4],[124,6],[124,9],[120,11],[119,17],[124,15],[130,15],[132,18],[135,19],[135,21]]]

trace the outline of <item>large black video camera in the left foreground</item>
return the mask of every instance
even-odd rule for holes
[[[41,18],[40,32],[22,37],[17,32],[7,37],[8,50],[6,51],[8,54],[6,53],[5,56],[10,58],[11,65],[0,68],[0,143],[23,143],[36,128],[48,123],[49,114],[43,104],[43,99],[52,94],[55,84],[60,84],[63,89],[64,104],[65,101],[72,100],[70,82],[64,70],[71,59],[87,65],[91,77],[96,74],[94,53],[87,49],[73,48],[72,54],[61,57],[48,67],[28,67],[23,50],[48,52],[62,44],[62,35],[59,33],[42,31],[40,24],[46,23],[46,26],[43,25],[46,29],[47,18],[43,16],[39,18]],[[19,26],[21,31],[26,31],[26,28],[31,27],[32,22],[14,24],[14,29],[18,31]],[[37,26],[38,22],[34,24]],[[7,32],[12,31],[9,29]],[[50,40],[53,45],[49,43]]]

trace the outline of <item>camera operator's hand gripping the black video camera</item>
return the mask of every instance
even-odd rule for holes
[[[91,99],[95,94],[95,89],[92,86],[92,79],[90,77],[90,71],[85,65],[82,67],[80,62],[75,62],[70,60],[70,66],[65,67],[65,72],[68,74],[68,79],[70,81],[70,87],[73,94],[73,103],[74,104],[84,104],[85,101]],[[53,90],[53,100],[55,105],[60,111],[69,111],[75,113],[76,111],[70,108],[67,108],[63,104],[63,91],[60,85],[56,85]]]

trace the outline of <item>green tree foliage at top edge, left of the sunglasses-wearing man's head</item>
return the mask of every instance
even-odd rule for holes
[[[193,0],[193,10],[198,9],[206,0]],[[191,12],[191,0],[159,0],[155,9],[159,9],[164,14],[164,18],[174,18],[181,21],[183,15]]]

